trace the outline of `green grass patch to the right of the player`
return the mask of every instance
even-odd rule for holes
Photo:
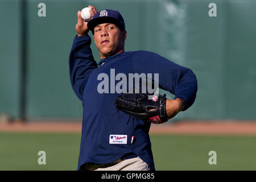
[[[151,144],[156,170],[256,170],[256,136],[151,135]]]

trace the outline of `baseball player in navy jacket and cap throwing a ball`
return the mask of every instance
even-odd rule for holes
[[[77,13],[77,35],[69,56],[71,85],[84,109],[77,169],[155,170],[148,135],[151,123],[166,122],[193,104],[196,76],[191,69],[156,53],[126,52],[122,15],[115,10],[97,12],[89,7],[89,22],[82,20],[81,11]],[[90,49],[89,31],[100,53],[99,64]],[[159,88],[174,94],[174,100],[165,95],[150,100],[148,90],[130,93],[129,76],[136,74],[147,78],[158,75]],[[139,86],[141,89],[142,81]]]

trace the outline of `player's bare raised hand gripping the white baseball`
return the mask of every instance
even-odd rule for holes
[[[90,10],[90,19],[93,18],[93,16],[97,13],[97,10],[94,6],[88,6],[92,11]],[[77,12],[77,24],[76,24],[76,32],[77,36],[83,36],[87,35],[89,32],[89,29],[87,27],[88,21],[85,22],[85,20],[82,19],[81,11]]]

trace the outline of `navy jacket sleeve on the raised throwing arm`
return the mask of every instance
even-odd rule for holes
[[[90,73],[97,68],[90,49],[91,39],[89,35],[75,36],[69,55],[69,76],[76,96],[82,100],[82,93],[88,81]]]

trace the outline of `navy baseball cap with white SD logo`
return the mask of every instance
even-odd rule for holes
[[[113,23],[116,24],[121,30],[125,30],[125,20],[122,15],[115,10],[101,10],[98,11],[93,19],[89,20],[87,26],[94,34],[94,27],[101,23]]]

